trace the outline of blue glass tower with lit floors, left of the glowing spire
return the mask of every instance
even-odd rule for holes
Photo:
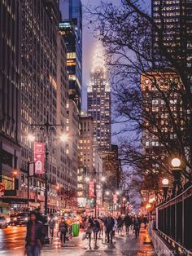
[[[60,1],[59,29],[67,46],[69,97],[81,110],[82,7],[81,0]]]

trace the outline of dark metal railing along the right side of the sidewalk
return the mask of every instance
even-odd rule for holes
[[[157,206],[156,229],[178,252],[192,255],[192,186]]]

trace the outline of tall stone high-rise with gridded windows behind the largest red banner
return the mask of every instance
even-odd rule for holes
[[[33,143],[28,134],[35,133],[38,142],[45,142],[45,130],[31,124],[65,124],[67,115],[68,76],[66,48],[58,32],[59,5],[53,1],[21,2],[21,161],[20,186],[27,183],[28,158],[33,161]],[[42,126],[43,127],[43,126]],[[49,158],[46,166],[51,200],[48,211],[58,210],[56,184],[68,186],[66,153],[59,144],[56,130],[49,130]],[[59,140],[59,139],[58,139]],[[55,148],[58,150],[56,151]],[[59,158],[59,161],[57,161]],[[45,179],[30,178],[30,197],[44,208]],[[33,202],[30,202],[33,206]]]

